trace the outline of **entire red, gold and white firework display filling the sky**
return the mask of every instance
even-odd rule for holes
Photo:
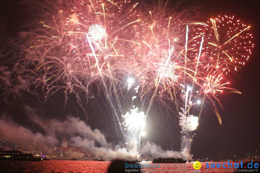
[[[205,103],[221,125],[218,95],[226,89],[239,93],[228,87],[227,78],[249,59],[254,46],[250,27],[234,16],[192,20],[188,9],[170,12],[168,1],[144,6],[109,0],[72,4],[71,10],[59,13],[60,19],[42,20],[33,32],[21,33],[36,41],[19,46],[23,58],[16,61],[14,56],[6,62],[16,63],[1,69],[6,76],[1,88],[10,88],[4,100],[17,97],[10,93],[31,93],[46,103],[63,93],[65,109],[72,93],[86,114],[84,105],[94,93],[104,94],[118,135],[129,151],[139,151],[154,101],[170,97],[166,112],[178,116],[181,152],[190,158]]]

